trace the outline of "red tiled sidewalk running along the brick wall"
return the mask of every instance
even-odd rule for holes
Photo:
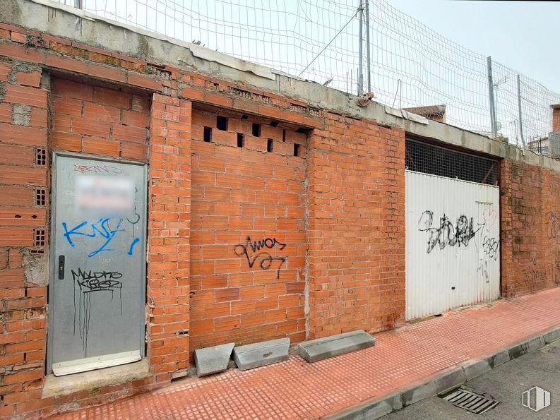
[[[188,378],[61,419],[316,419],[560,325],[560,288],[376,334],[375,347],[308,364]]]

